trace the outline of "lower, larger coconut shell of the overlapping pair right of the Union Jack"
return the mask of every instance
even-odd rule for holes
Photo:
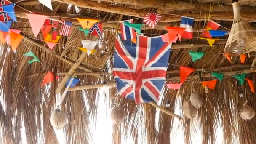
[[[197,115],[197,110],[198,109],[194,107],[190,101],[183,101],[182,111],[187,118],[191,119],[195,117],[195,115]]]

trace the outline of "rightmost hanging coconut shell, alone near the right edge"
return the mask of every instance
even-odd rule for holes
[[[244,104],[239,111],[239,115],[244,120],[251,120],[255,116],[255,111],[248,104]]]

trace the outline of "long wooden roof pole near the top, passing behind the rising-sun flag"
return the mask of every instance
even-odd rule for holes
[[[124,7],[118,7],[113,6],[105,3],[97,3],[92,2],[88,0],[56,0],[60,3],[66,3],[66,4],[72,4],[77,5],[82,8],[89,8],[93,10],[98,11],[105,11],[109,13],[117,13],[122,15],[128,15],[128,16],[134,16],[138,18],[144,18],[146,16],[147,11],[143,10],[136,10],[131,8],[124,8]],[[179,5],[179,7],[181,7]],[[248,11],[241,11],[241,15],[245,19],[245,21],[256,21],[256,16],[254,16],[254,13],[256,13],[255,10],[252,10],[253,12],[248,13]],[[195,21],[203,21],[205,20],[206,14],[202,13],[175,13],[176,15],[171,14],[163,14],[162,18],[160,19],[160,22],[176,22],[180,21],[180,16],[189,16],[195,18]],[[208,13],[207,13],[208,14]],[[179,16],[177,16],[179,15]],[[211,13],[211,19],[212,20],[222,20],[222,21],[232,21],[233,20],[233,13]]]

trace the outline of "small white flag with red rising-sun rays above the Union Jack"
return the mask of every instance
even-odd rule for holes
[[[158,21],[161,19],[161,14],[155,13],[155,12],[148,12],[145,18],[143,19],[143,22],[149,25],[150,27],[155,27],[157,25]]]

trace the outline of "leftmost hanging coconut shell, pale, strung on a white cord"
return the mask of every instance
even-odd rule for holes
[[[50,116],[50,123],[57,130],[64,128],[67,124],[66,113],[59,109],[53,110]]]

